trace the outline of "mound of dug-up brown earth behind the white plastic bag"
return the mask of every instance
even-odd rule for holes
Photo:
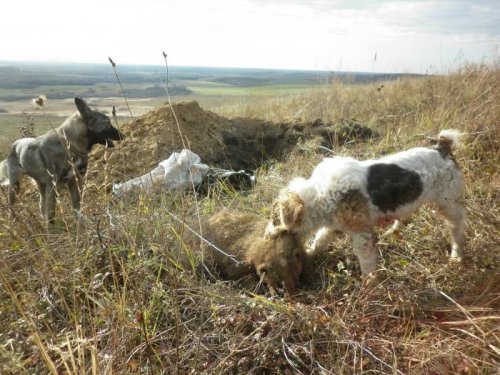
[[[363,126],[358,125],[359,129],[349,131],[335,130],[333,124],[321,120],[274,123],[229,119],[202,109],[196,101],[172,107],[165,104],[122,125],[120,130],[127,138],[116,142],[114,149],[96,147],[90,156],[88,181],[109,184],[140,176],[183,148],[189,148],[212,167],[256,169],[268,159],[280,159],[301,138],[321,137],[321,144],[331,148],[349,137],[373,136],[370,129],[363,133]]]

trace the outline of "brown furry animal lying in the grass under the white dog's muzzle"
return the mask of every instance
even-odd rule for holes
[[[222,254],[189,231],[183,240],[193,250],[203,248],[203,265],[223,279],[259,276],[272,294],[281,282],[289,293],[294,293],[302,272],[304,248],[286,231],[273,239],[264,238],[266,224],[265,219],[255,214],[232,210],[223,210],[202,221],[203,237],[234,258]]]

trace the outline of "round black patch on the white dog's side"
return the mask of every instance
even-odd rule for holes
[[[416,200],[423,191],[418,173],[396,164],[373,164],[368,169],[368,194],[382,212]]]

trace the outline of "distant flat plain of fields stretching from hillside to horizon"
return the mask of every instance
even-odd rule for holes
[[[118,75],[133,116],[147,113],[167,101],[164,67],[119,66]],[[288,71],[232,68],[172,67],[169,92],[174,102],[197,100],[208,110],[221,106],[248,106],[265,98],[314,93],[333,79],[365,82],[395,79],[398,75],[352,74],[319,71]],[[75,110],[75,96],[89,100],[92,107],[110,114],[115,106],[123,121],[130,119],[123,98],[109,65],[86,64],[22,64],[0,62],[0,147],[23,135],[20,128],[33,116],[35,134],[57,127]],[[47,97],[46,118],[31,99],[39,94]],[[257,103],[257,105],[259,105]],[[0,154],[2,149],[0,149]]]

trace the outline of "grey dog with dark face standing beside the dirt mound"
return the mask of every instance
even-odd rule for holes
[[[72,207],[79,213],[92,147],[114,147],[112,141],[124,138],[105,114],[90,109],[83,99],[75,98],[75,104],[78,111],[58,128],[37,138],[15,141],[7,159],[0,163],[0,183],[8,185],[9,207],[12,209],[16,200],[22,177],[32,177],[40,191],[40,211],[47,227],[54,223],[57,192],[64,185],[68,185]]]

